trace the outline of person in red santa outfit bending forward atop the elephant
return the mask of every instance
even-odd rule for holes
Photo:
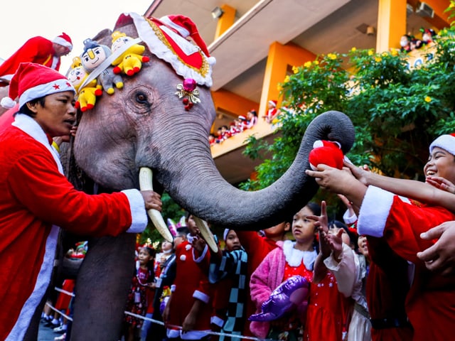
[[[9,84],[20,63],[38,63],[60,70],[60,57],[68,55],[73,42],[66,33],[48,40],[41,36],[30,38],[10,58],[0,65],[0,87]]]

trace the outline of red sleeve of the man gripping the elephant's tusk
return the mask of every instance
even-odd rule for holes
[[[132,224],[126,195],[87,195],[75,190],[55,161],[43,153],[19,158],[8,182],[16,200],[33,215],[70,232],[117,235]]]

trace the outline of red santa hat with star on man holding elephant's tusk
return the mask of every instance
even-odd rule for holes
[[[1,106],[11,109],[16,105],[14,99],[19,97],[19,108],[33,99],[72,91],[73,85],[60,72],[36,63],[21,63],[9,83],[9,97],[1,99]]]

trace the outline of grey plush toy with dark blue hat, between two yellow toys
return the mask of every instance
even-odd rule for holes
[[[82,66],[87,72],[90,73],[99,67],[109,55],[112,55],[112,52],[107,45],[101,45],[96,40],[90,38],[84,40],[84,52],[81,55],[81,60]],[[114,86],[117,89],[122,89],[123,87],[122,76],[116,75],[114,73],[114,67],[111,65],[107,65],[97,79],[107,94],[114,93]]]

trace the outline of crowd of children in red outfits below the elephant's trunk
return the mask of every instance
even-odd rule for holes
[[[455,279],[418,252],[434,244],[421,232],[455,220],[454,146],[433,141],[427,184],[348,163],[306,171],[338,193],[344,222],[309,202],[261,232],[225,229],[213,252],[188,215],[156,257],[138,247],[126,310],[153,320],[127,313],[122,340],[450,340]]]

